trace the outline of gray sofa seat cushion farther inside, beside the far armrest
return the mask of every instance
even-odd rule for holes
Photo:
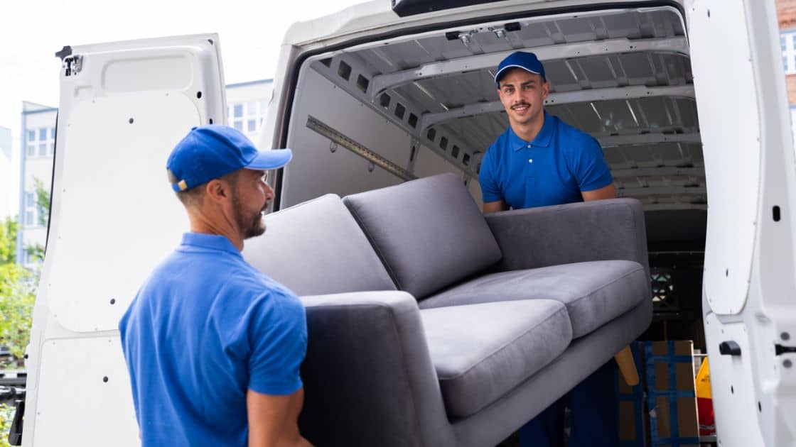
[[[592,261],[487,274],[438,293],[421,308],[544,298],[561,301],[577,338],[650,299],[650,278],[633,261]]]

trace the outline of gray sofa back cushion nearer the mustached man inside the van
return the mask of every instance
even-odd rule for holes
[[[346,196],[400,290],[422,299],[501,258],[461,179],[442,174]]]

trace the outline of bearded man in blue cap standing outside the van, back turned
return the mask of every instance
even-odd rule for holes
[[[172,150],[190,232],[119,322],[142,445],[309,445],[297,423],[304,308],[240,255],[265,231],[266,171],[291,155],[228,126],[194,127]]]

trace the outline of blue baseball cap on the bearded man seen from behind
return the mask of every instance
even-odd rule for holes
[[[178,179],[174,191],[187,191],[238,169],[276,169],[287,165],[289,149],[257,150],[246,135],[229,126],[193,127],[171,150],[166,168]]]

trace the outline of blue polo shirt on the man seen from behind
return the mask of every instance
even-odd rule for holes
[[[185,234],[119,331],[144,446],[245,446],[246,391],[302,387],[301,301],[224,236]]]

